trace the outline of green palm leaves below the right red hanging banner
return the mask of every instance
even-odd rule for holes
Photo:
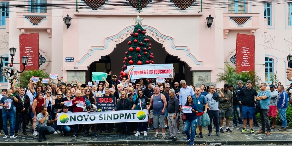
[[[260,82],[262,80],[256,71],[236,73],[236,68],[229,65],[225,65],[225,68],[220,69],[222,69],[223,72],[217,74],[217,83],[224,82],[226,84],[232,85],[236,89],[237,81],[241,80],[245,85],[246,81],[250,80],[253,82],[253,88],[256,89],[256,91],[260,91]]]

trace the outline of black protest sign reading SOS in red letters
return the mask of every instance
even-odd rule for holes
[[[100,97],[96,99],[96,107],[98,111],[106,112],[114,109],[114,103],[116,102],[115,97]]]

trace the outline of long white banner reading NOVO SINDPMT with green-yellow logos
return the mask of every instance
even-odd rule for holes
[[[57,125],[147,122],[148,110],[119,110],[109,112],[57,113]]]

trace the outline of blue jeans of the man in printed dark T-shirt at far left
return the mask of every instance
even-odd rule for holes
[[[3,118],[3,129],[5,135],[8,135],[8,129],[7,129],[7,120],[9,120],[9,126],[10,126],[10,136],[14,134],[14,117],[13,117],[13,110],[7,111],[2,110],[2,118]]]

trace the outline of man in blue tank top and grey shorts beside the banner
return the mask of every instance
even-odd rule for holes
[[[154,95],[151,96],[150,98],[150,105],[147,108],[151,107],[153,105],[153,127],[156,129],[156,134],[154,137],[159,136],[159,124],[162,129],[162,138],[166,138],[165,135],[165,108],[167,105],[166,98],[165,96],[159,92],[160,88],[159,86],[155,85],[154,86]]]

